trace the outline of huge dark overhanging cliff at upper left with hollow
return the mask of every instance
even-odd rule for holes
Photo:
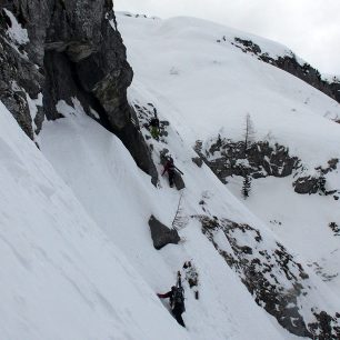
[[[127,101],[132,69],[112,10],[112,2],[63,0],[2,1],[27,29],[29,43],[18,43],[7,34],[11,20],[0,17],[1,71],[0,99],[26,133],[34,139],[43,118],[58,119],[56,104],[77,98],[84,111],[116,133],[137,164],[157,181],[156,167],[140,133],[136,113]],[[16,83],[16,87],[13,87]],[[27,98],[43,94],[43,104],[34,118]],[[34,124],[32,123],[34,120]],[[36,126],[36,128],[34,128]]]

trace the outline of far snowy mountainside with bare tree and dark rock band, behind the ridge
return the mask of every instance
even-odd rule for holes
[[[339,296],[340,127],[334,122],[339,103],[244,48],[244,41],[258,47],[274,63],[293,56],[279,43],[192,18],[160,20],[122,13],[118,22],[134,69],[130,102],[140,117],[148,111],[140,108],[140,98],[147,97],[294,260],[319,277],[324,284],[321,291]],[[244,201],[241,190],[248,177],[252,184]],[[230,219],[228,213],[223,218]],[[230,243],[231,224],[220,224]],[[214,246],[221,253],[218,242]],[[233,253],[236,258],[243,260]],[[250,262],[259,260],[254,254],[250,258]],[[257,291],[263,278],[257,288],[253,278],[244,280],[251,266],[240,270],[240,262],[228,260],[256,299],[276,300]],[[282,304],[278,300],[277,306]],[[266,310],[280,320],[280,308],[268,304]],[[330,323],[337,312],[339,308]]]

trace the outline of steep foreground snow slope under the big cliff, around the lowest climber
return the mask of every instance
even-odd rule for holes
[[[177,193],[158,193],[77,100],[58,107],[70,116],[46,123],[40,142],[63,180],[0,103],[3,339],[289,339],[198,226],[183,231],[186,246],[153,249],[146,218],[167,221]],[[156,297],[188,259],[201,282],[199,301],[186,287],[189,331]]]

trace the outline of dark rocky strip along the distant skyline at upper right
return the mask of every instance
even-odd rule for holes
[[[322,80],[320,72],[312,68],[309,63],[300,64],[293,52],[290,52],[291,56],[273,59],[267,53],[262,53],[261,48],[251,40],[234,38],[233,44],[240,48],[244,53],[253,53],[260,60],[298,77],[324,94],[340,102],[340,82],[337,79],[334,79],[333,82]]]

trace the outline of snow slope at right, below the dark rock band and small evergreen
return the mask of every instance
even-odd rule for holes
[[[339,294],[340,240],[328,227],[340,221],[339,203],[332,197],[297,194],[290,182],[290,177],[256,180],[244,203]],[[240,186],[234,178],[228,188],[242,199]]]

